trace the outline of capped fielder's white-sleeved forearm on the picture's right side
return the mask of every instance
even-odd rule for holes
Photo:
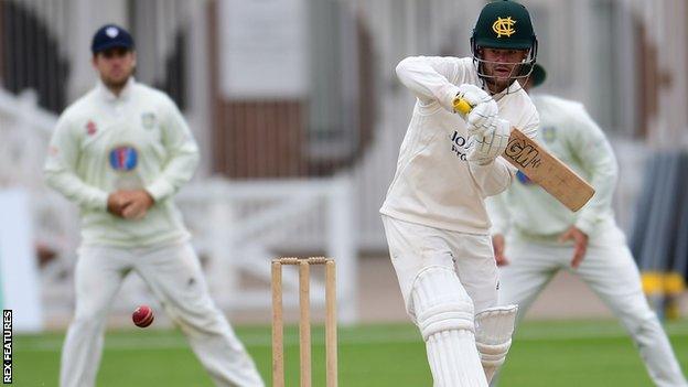
[[[197,150],[189,150],[178,154],[164,168],[158,179],[146,187],[155,202],[174,195],[191,178],[193,178],[200,157]]]

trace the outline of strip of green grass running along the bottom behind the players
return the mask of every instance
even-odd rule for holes
[[[688,367],[688,322],[667,325]],[[270,377],[270,330],[237,327],[260,373]],[[322,331],[313,331],[313,386],[324,386]],[[57,386],[63,333],[14,337],[14,385]],[[286,332],[287,386],[298,386],[298,336]],[[176,331],[108,332],[98,386],[213,386]],[[268,381],[269,386],[270,383]],[[340,329],[340,385],[431,386],[424,346],[408,324]],[[506,386],[652,386],[631,340],[615,322],[526,322],[504,368]]]

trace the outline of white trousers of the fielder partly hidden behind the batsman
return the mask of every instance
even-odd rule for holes
[[[571,269],[573,248],[549,240],[534,240],[514,233],[507,238],[509,265],[499,270],[499,303],[518,304],[523,316],[557,271],[579,276],[614,312],[638,347],[656,386],[688,386],[669,341],[649,308],[637,266],[615,226],[591,236],[585,257]]]

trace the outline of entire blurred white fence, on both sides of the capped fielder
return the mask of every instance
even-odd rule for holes
[[[41,251],[56,252],[41,266],[45,315],[62,321],[73,305],[78,215],[74,205],[42,183],[55,120],[36,106],[33,94],[15,97],[0,88],[0,187],[23,186],[31,192],[36,245]],[[268,308],[271,258],[326,255],[337,262],[340,321],[355,322],[357,248],[352,184],[351,176],[341,174],[298,181],[211,179],[182,190],[178,203],[221,308],[229,313]],[[284,272],[283,284],[286,305],[295,304],[298,281],[290,270]],[[150,297],[137,279],[128,280],[119,295],[114,309],[121,311]],[[318,278],[312,297],[315,305],[324,302]]]

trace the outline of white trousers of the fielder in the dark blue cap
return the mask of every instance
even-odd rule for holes
[[[76,264],[76,311],[62,351],[60,385],[90,387],[103,352],[105,320],[122,280],[136,271],[189,338],[217,386],[261,387],[262,379],[215,307],[190,244],[122,249],[85,246]]]

